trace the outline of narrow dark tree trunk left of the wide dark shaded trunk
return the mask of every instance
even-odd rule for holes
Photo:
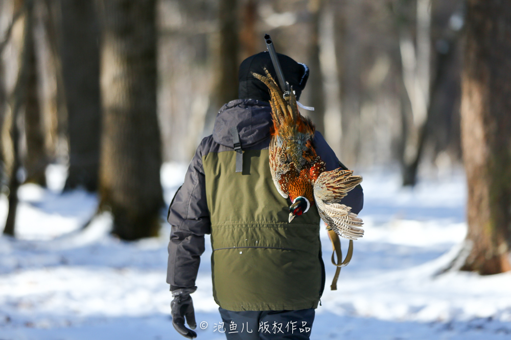
[[[31,31],[26,33],[27,65],[27,93],[25,103],[25,136],[27,140],[27,154],[25,155],[26,182],[46,186],[46,167],[48,153],[44,141],[44,121],[39,104],[39,75],[37,70],[36,45],[34,39],[35,15],[34,6],[28,8],[26,20],[30,20]]]

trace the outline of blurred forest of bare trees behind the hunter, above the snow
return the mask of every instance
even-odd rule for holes
[[[315,111],[302,113],[346,166],[400,171],[405,186],[448,175],[461,165],[463,32],[481,3],[0,0],[2,192],[67,164],[64,190],[98,191],[114,233],[154,235],[161,162],[189,162],[265,33],[309,66],[300,101]],[[496,3],[482,19],[508,14]]]

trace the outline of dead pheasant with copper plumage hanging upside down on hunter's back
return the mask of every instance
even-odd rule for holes
[[[266,75],[252,75],[270,90],[273,120],[270,171],[277,191],[291,199],[289,222],[307,213],[315,203],[327,229],[350,240],[362,237],[362,219],[351,212],[351,207],[340,203],[362,177],[340,168],[326,171],[325,163],[314,149],[314,125],[298,112],[293,91],[285,96],[268,70],[264,71]]]

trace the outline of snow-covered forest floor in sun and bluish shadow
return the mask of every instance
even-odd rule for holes
[[[170,202],[186,166],[162,168]],[[171,324],[165,282],[170,228],[156,239],[126,243],[109,236],[110,217],[95,218],[97,197],[60,194],[65,169],[48,169],[50,189],[20,188],[17,239],[0,237],[0,339],[184,339]],[[399,177],[367,174],[365,236],[355,242],[338,291],[322,231],[327,287],[313,339],[511,338],[511,274],[437,275],[466,233],[462,176],[401,189]],[[0,196],[0,221],[7,199]],[[164,215],[165,212],[162,212]],[[208,244],[206,242],[206,244]],[[343,249],[347,242],[343,241]],[[211,296],[211,247],[193,294],[198,338],[225,338]]]

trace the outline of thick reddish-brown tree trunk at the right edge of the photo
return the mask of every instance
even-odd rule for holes
[[[461,268],[511,270],[511,3],[468,0],[461,138],[468,181],[467,244]]]

